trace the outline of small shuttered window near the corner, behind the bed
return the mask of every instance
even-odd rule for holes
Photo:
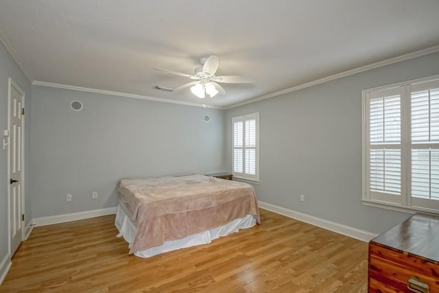
[[[259,181],[259,113],[233,117],[233,176]]]

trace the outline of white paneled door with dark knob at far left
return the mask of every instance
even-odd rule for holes
[[[9,79],[9,217],[10,253],[23,241],[23,109],[24,93]]]

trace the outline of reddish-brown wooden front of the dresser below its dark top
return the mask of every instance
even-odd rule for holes
[[[376,244],[369,244],[370,292],[380,292],[380,290],[381,292],[412,292],[407,289],[411,277],[427,283],[429,292],[439,292],[437,263]],[[379,283],[385,284],[385,288],[377,288]],[[372,286],[373,284],[375,285]]]

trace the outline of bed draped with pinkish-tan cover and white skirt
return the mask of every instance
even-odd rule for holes
[[[260,223],[247,183],[204,175],[121,179],[115,225],[130,254],[152,257],[208,244]]]

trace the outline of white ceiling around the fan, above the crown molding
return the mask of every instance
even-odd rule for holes
[[[439,45],[439,1],[0,0],[0,30],[32,81],[228,106]],[[254,84],[154,89],[212,54]]]

